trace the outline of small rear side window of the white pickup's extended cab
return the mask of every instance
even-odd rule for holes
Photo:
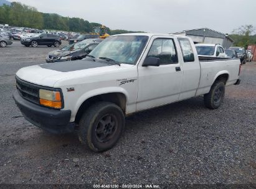
[[[192,50],[191,44],[188,39],[180,38],[179,45],[181,45],[181,51],[183,52],[183,60],[184,62],[194,62],[194,52]]]

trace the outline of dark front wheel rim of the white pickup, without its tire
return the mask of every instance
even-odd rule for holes
[[[100,142],[110,141],[116,133],[117,119],[113,114],[107,114],[98,121],[95,129],[97,140]]]

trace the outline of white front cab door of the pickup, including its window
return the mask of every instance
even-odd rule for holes
[[[149,47],[141,60],[160,59],[159,67],[138,65],[138,97],[136,111],[178,101],[183,81],[183,70],[176,49],[178,41],[171,36],[151,37]]]

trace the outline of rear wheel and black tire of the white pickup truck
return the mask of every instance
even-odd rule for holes
[[[225,83],[222,80],[215,81],[209,93],[204,94],[204,105],[210,109],[217,109],[222,104],[225,96]]]

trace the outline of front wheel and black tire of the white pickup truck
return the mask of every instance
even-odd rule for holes
[[[90,106],[79,122],[78,137],[94,152],[111,149],[125,129],[125,116],[119,106],[98,102]]]

